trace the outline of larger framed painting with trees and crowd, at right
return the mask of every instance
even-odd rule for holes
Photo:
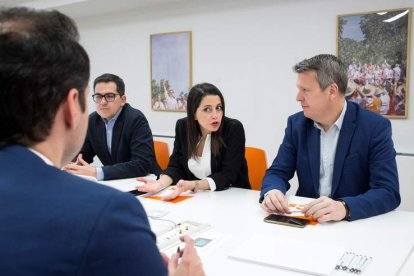
[[[389,118],[407,118],[411,8],[337,16],[346,98]]]

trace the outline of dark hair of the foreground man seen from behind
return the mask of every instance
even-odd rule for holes
[[[57,11],[0,8],[0,145],[44,141],[72,88],[86,108],[89,58]]]

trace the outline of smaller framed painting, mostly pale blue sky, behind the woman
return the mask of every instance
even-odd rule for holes
[[[186,111],[192,85],[191,32],[152,34],[151,108]]]

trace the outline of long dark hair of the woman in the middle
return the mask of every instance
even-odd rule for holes
[[[188,141],[188,159],[197,156],[197,144],[202,136],[200,125],[195,119],[197,108],[200,106],[201,100],[205,96],[219,96],[223,110],[223,118],[225,115],[224,98],[220,90],[210,83],[200,83],[190,89],[187,99],[187,141]],[[211,151],[214,156],[221,152],[223,144],[222,138],[223,121],[220,128],[216,132],[211,133]]]

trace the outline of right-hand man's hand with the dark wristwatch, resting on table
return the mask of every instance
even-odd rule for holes
[[[303,212],[305,216],[312,216],[318,222],[340,221],[346,215],[345,206],[341,202],[326,196],[306,204]]]

